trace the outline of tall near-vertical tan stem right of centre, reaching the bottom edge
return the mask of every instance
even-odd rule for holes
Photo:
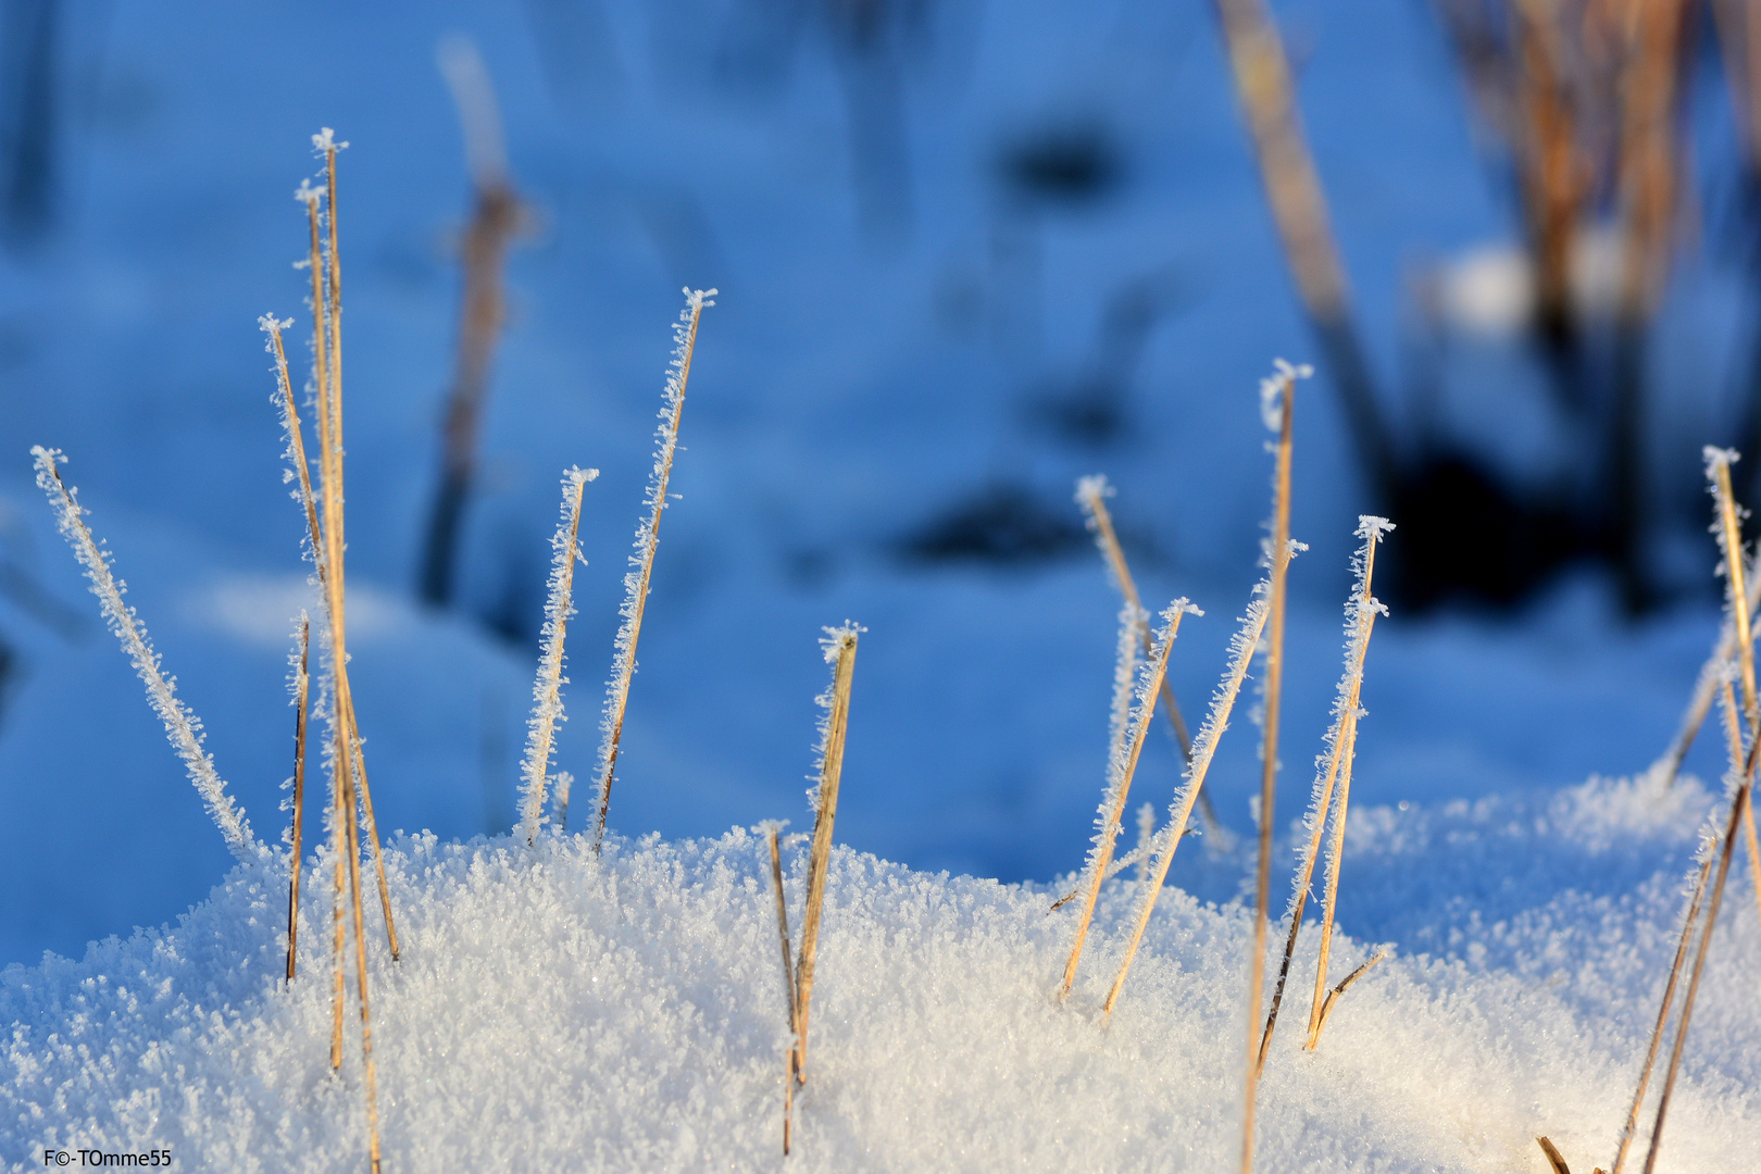
[[[1247,968],[1247,1090],[1242,1116],[1242,1174],[1254,1169],[1254,1107],[1259,1088],[1259,998],[1266,980],[1266,917],[1271,905],[1271,833],[1277,825],[1275,799],[1278,789],[1278,718],[1284,708],[1284,602],[1286,574],[1291,567],[1291,428],[1296,410],[1296,370],[1280,364],[1271,377],[1275,385],[1261,389],[1268,398],[1277,394],[1278,449],[1273,473],[1271,546],[1266,558],[1271,563],[1271,618],[1266,639],[1266,723],[1261,737],[1259,773],[1259,871],[1254,884],[1254,949]]]

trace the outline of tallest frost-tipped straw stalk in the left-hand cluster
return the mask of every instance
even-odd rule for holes
[[[324,190],[328,199],[328,245],[319,234],[319,199],[321,194],[301,183],[296,197],[306,206],[310,227],[310,255],[306,264],[312,269],[312,333],[317,384],[319,417],[319,500],[322,507],[322,528],[312,535],[317,549],[322,551],[319,583],[324,591],[324,613],[329,628],[329,672],[333,723],[343,739],[343,769],[354,773],[350,792],[359,796],[359,804],[366,815],[368,843],[373,852],[373,868],[379,878],[379,905],[386,917],[386,940],[391,945],[391,959],[398,959],[398,929],[391,915],[391,889],[386,884],[386,859],[379,843],[379,820],[373,815],[373,794],[366,781],[366,762],[361,755],[361,734],[354,715],[354,692],[349,686],[347,653],[347,586],[343,569],[343,444],[342,444],[342,262],[336,248],[336,151],[349,146],[336,143],[329,127],[322,134],[312,136],[313,150],[324,155]],[[271,331],[271,338],[275,331]],[[285,371],[284,371],[285,375]],[[291,391],[287,403],[292,403]],[[292,417],[292,437],[299,437],[298,417]],[[291,442],[292,444],[292,442]],[[299,447],[303,456],[303,444]],[[303,466],[303,459],[301,459]],[[310,482],[303,482],[310,493]],[[308,525],[312,516],[308,516]]]

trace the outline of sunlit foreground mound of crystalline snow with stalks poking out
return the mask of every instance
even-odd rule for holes
[[[387,845],[405,956],[372,943],[386,1169],[777,1169],[787,1028],[763,850],[745,831],[613,840],[602,859],[581,836]],[[352,1009],[343,1077],[328,1065],[326,871],[308,871],[289,989],[278,868],[234,868],[174,928],[0,975],[9,1158],[169,1146],[181,1169],[361,1167]],[[794,859],[794,908],[803,873]],[[1712,954],[1668,1170],[1740,1169],[1761,1149],[1761,935],[1740,898]],[[1071,922],[1048,915],[1044,889],[835,852],[791,1169],[1233,1163],[1247,915],[1166,891],[1108,1024],[1097,1007],[1131,901],[1125,882],[1102,894],[1060,1007]],[[1500,926],[1511,970],[1382,963],[1317,1054],[1282,1031],[1259,1167],[1543,1170],[1536,1134],[1585,1169],[1606,1162],[1673,945],[1676,878],[1590,905],[1567,891],[1527,931]],[[1566,963],[1544,959],[1558,924],[1578,929]],[[1335,952],[1342,968],[1367,956],[1351,940]],[[1303,956],[1298,991],[1312,984]],[[1573,996],[1585,989],[1599,996]]]

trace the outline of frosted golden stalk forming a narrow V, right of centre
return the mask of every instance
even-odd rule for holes
[[[1155,716],[1155,701],[1168,681],[1168,657],[1180,634],[1180,620],[1189,611],[1196,611],[1185,598],[1176,598],[1162,613],[1162,634],[1150,651],[1148,671],[1136,683],[1138,706],[1136,720],[1131,718],[1132,678],[1138,662],[1138,634],[1146,628],[1143,609],[1127,602],[1118,616],[1118,665],[1113,674],[1113,739],[1108,750],[1108,789],[1101,797],[1101,811],[1095,818],[1094,848],[1088,852],[1087,892],[1083,912],[1076,921],[1076,936],[1071,942],[1071,958],[1064,963],[1064,980],[1058,984],[1058,998],[1071,993],[1076,982],[1076,965],[1083,958],[1083,943],[1088,940],[1088,922],[1094,919],[1095,899],[1101,896],[1101,882],[1108,877],[1108,864],[1113,861],[1113,843],[1118,840],[1120,818],[1125,815],[1125,799],[1131,796],[1131,778],[1138,773],[1138,759],[1143,757],[1143,743],[1150,736],[1150,718]],[[1129,737],[1129,743],[1127,743]],[[1127,748],[1129,745],[1129,748]]]

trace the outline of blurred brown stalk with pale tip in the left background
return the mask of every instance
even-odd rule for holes
[[[421,593],[435,605],[446,605],[453,598],[458,530],[477,470],[490,363],[507,320],[507,252],[532,222],[507,174],[495,90],[475,46],[463,37],[442,44],[440,69],[465,130],[475,206],[460,248],[465,294],[460,301],[458,357],[442,426],[440,486],[423,551]]]

